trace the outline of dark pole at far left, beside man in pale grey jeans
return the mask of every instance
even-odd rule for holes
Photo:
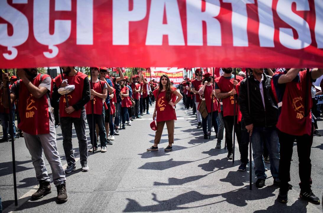
[[[5,73],[8,73],[8,70],[5,69]],[[12,125],[12,103],[10,98],[10,89],[9,89],[10,82],[7,83],[7,95],[8,95],[8,102],[9,102],[9,132],[11,136],[11,149],[12,149],[12,169],[14,175],[14,192],[15,192],[15,206],[18,206],[18,197],[17,197],[17,180],[16,180],[16,160],[15,160],[15,138],[14,138],[14,127]]]

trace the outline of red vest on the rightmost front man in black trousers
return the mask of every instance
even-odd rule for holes
[[[278,73],[277,73],[278,74]],[[299,82],[286,83],[283,95],[281,112],[277,122],[277,128],[291,135],[311,135],[312,131],[312,96],[311,77],[308,82],[307,117],[305,116],[306,70],[299,72]],[[281,141],[281,143],[284,143]]]

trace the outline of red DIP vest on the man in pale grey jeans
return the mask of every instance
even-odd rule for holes
[[[45,80],[49,75],[38,74],[37,77],[31,81],[36,87],[39,86],[40,82]],[[18,83],[17,83],[18,85]],[[53,81],[51,85],[51,91],[53,89]],[[51,92],[50,91],[50,92]],[[25,133],[38,135],[49,133],[49,103],[47,101],[47,95],[43,95],[41,98],[35,98],[27,89],[26,85],[19,81],[19,116],[20,123],[18,128]],[[52,118],[54,119],[54,118]]]

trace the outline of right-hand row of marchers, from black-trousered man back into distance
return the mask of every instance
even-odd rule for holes
[[[282,203],[287,203],[287,193],[292,188],[288,182],[296,142],[300,197],[319,204],[311,190],[310,152],[313,136],[321,136],[317,131],[321,107],[315,96],[322,92],[312,83],[323,75],[323,70],[248,68],[238,75],[233,68],[222,70],[222,76],[214,76],[212,72],[195,69],[195,78],[186,78],[180,84],[184,107],[192,108],[196,114],[197,129],[203,129],[204,139],[211,137],[213,128],[216,148],[220,149],[225,129],[224,148],[228,150],[227,158],[233,159],[234,131],[241,161],[238,170],[245,171],[250,138],[255,185],[265,186],[265,163],[270,164],[274,184],[280,187],[277,200]]]

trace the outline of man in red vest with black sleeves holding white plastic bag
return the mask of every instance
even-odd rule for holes
[[[69,85],[75,86],[75,89],[73,91],[68,93],[67,96],[62,96],[59,101],[59,115],[61,118],[63,148],[66,161],[68,163],[68,166],[65,169],[65,173],[70,173],[76,169],[72,146],[72,124],[74,124],[75,132],[78,137],[82,172],[87,172],[89,171],[89,166],[88,141],[85,134],[85,104],[89,102],[91,97],[89,78],[84,73],[76,70],[75,67],[62,67],[62,70],[64,73],[63,78],[68,80]],[[55,82],[57,88],[63,88],[67,86],[66,83],[62,83],[61,75],[56,77]],[[68,107],[66,97],[68,98]]]

